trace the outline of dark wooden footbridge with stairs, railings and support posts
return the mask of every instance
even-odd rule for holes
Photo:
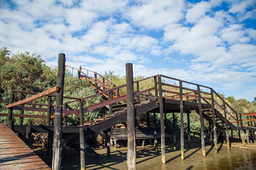
[[[74,98],[63,96],[63,83],[65,69],[78,71],[78,78],[87,80],[95,88],[94,95],[84,96],[83,98]],[[60,168],[61,160],[61,139],[65,134],[79,134],[81,147],[81,169],[85,168],[85,144],[84,138],[90,134],[100,134],[107,141],[107,152],[110,156],[110,139],[111,128],[119,123],[127,122],[127,140],[128,140],[128,155],[127,161],[129,169],[135,169],[135,125],[134,116],[142,114],[154,115],[154,129],[151,135],[154,135],[154,141],[157,142],[156,130],[156,114],[160,114],[161,120],[161,153],[162,163],[166,163],[165,156],[165,130],[166,114],[173,114],[173,124],[175,125],[175,114],[180,115],[180,144],[181,158],[184,159],[184,123],[183,115],[187,114],[188,118],[188,142],[190,142],[190,113],[195,110],[200,117],[201,125],[201,144],[202,155],[206,156],[205,150],[205,128],[209,127],[210,135],[214,147],[217,150],[218,134],[225,134],[228,149],[230,149],[229,131],[233,134],[236,131],[241,137],[241,141],[245,144],[245,136],[248,139],[255,139],[254,132],[256,131],[255,113],[251,116],[249,124],[243,123],[242,114],[237,113],[213,88],[191,83],[180,79],[168,77],[166,75],[153,75],[142,80],[133,80],[132,64],[126,64],[126,81],[127,84],[118,86],[102,75],[94,71],[89,71],[83,68],[72,68],[65,66],[65,55],[59,55],[58,63],[58,80],[57,87],[35,94],[28,91],[13,90],[10,93],[9,104],[7,105],[8,114],[0,114],[7,116],[7,125],[15,133],[26,133],[29,137],[31,133],[48,133],[48,153],[53,153],[52,169]],[[142,83],[143,82],[143,83]],[[148,87],[143,84],[149,85]],[[150,85],[152,85],[150,87]],[[23,93],[34,95],[22,101],[15,101],[15,94]],[[93,105],[86,105],[86,101],[101,96],[103,101]],[[35,104],[31,101],[38,98],[47,98],[47,104]],[[63,103],[63,99],[68,100]],[[78,102],[79,109],[70,107],[70,103]],[[84,114],[90,110],[102,109],[105,115],[94,120],[87,121],[84,119]],[[13,110],[20,110],[20,114],[13,114]],[[31,115],[25,114],[25,111],[47,112],[47,115]],[[68,126],[67,117],[76,115],[80,119],[80,125]],[[13,117],[20,117],[19,125],[14,125]],[[23,117],[47,118],[47,125],[23,125]],[[147,116],[148,117],[148,116]],[[148,122],[150,120],[148,119]],[[54,123],[53,123],[54,122]],[[245,121],[244,121],[245,122]],[[1,126],[2,128],[2,126]],[[175,126],[170,130],[175,141]],[[104,132],[104,133],[103,133]],[[245,135],[246,133],[246,135]],[[145,134],[146,135],[146,134]],[[52,143],[54,136],[54,151],[52,152]],[[2,142],[0,142],[0,145]],[[0,151],[1,154],[1,151]]]

